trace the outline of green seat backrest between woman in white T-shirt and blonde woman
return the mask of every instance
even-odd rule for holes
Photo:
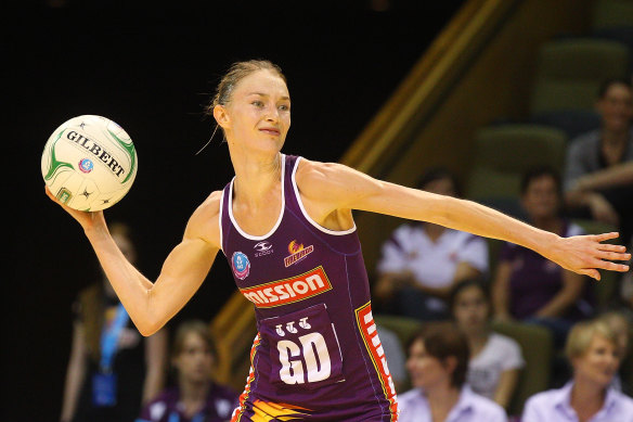
[[[526,367],[521,370],[517,389],[508,409],[509,414],[519,415],[529,397],[550,386],[554,354],[552,334],[543,327],[520,322],[494,322],[492,329],[514,338],[521,347]]]

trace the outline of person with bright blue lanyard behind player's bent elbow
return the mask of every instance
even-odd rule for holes
[[[135,261],[129,228],[114,223],[111,231],[124,255]],[[61,421],[134,421],[142,402],[164,386],[166,331],[143,337],[103,273],[80,292],[75,310]]]

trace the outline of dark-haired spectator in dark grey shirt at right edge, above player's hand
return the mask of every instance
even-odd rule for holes
[[[579,217],[619,227],[633,235],[633,92],[625,79],[609,79],[596,108],[602,127],[573,139],[567,151],[565,202]]]

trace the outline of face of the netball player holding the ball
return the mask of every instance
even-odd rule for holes
[[[229,104],[216,115],[232,148],[279,152],[290,128],[290,95],[284,80],[268,69],[244,77]]]

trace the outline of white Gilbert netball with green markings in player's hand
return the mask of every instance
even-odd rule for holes
[[[63,123],[42,153],[42,176],[51,192],[70,208],[94,212],[119,202],[137,177],[139,159],[128,133],[101,116]]]

